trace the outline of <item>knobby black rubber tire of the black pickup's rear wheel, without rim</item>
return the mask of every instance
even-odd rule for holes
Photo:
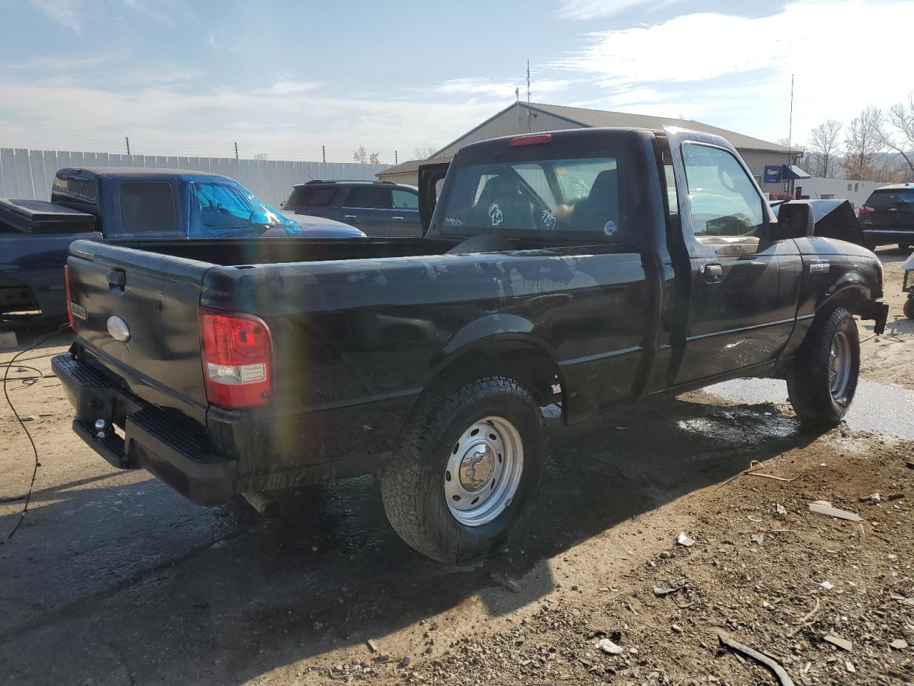
[[[516,428],[523,469],[505,509],[481,526],[466,526],[448,507],[446,467],[467,428],[489,416],[505,418]],[[458,563],[485,555],[503,543],[529,511],[545,461],[543,415],[524,385],[499,375],[441,383],[416,403],[381,475],[384,511],[400,538],[432,560]]]

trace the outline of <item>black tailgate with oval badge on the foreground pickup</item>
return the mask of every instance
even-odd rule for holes
[[[197,305],[211,263],[78,241],[68,261],[75,344],[148,402],[206,422]]]

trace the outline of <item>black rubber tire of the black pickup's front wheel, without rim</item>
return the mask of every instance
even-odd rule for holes
[[[847,379],[833,392],[832,348],[837,338],[847,344]],[[844,307],[820,313],[806,334],[787,377],[787,393],[793,412],[809,427],[834,426],[845,416],[856,393],[860,373],[860,338],[856,321]]]

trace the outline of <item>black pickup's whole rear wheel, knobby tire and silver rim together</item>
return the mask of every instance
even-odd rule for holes
[[[381,476],[388,520],[423,555],[456,563],[504,542],[530,509],[546,438],[533,395],[484,376],[420,398]]]

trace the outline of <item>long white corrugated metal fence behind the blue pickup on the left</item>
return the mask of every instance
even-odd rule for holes
[[[284,162],[230,157],[160,157],[69,153],[59,150],[0,148],[0,198],[48,200],[55,172],[65,166],[137,166],[188,169],[236,178],[258,198],[279,207],[292,184],[312,178],[377,180],[389,165],[337,162]]]

